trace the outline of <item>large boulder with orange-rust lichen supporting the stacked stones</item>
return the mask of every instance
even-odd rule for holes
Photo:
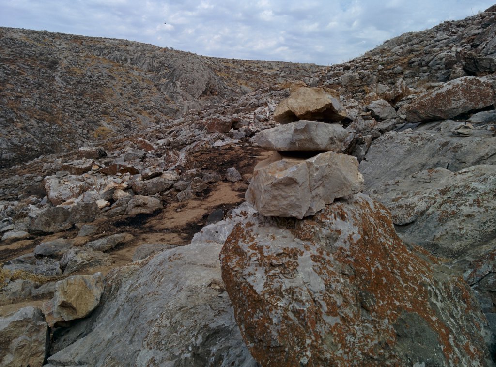
[[[409,250],[382,205],[357,194],[292,229],[276,223],[248,218],[220,255],[261,365],[491,365],[470,288]]]

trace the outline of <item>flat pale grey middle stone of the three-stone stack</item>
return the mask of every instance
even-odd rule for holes
[[[254,142],[271,150],[340,151],[348,134],[337,123],[300,120],[262,130]]]

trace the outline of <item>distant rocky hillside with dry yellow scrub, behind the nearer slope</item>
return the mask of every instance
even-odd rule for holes
[[[322,69],[0,28],[0,167],[202,110]]]

